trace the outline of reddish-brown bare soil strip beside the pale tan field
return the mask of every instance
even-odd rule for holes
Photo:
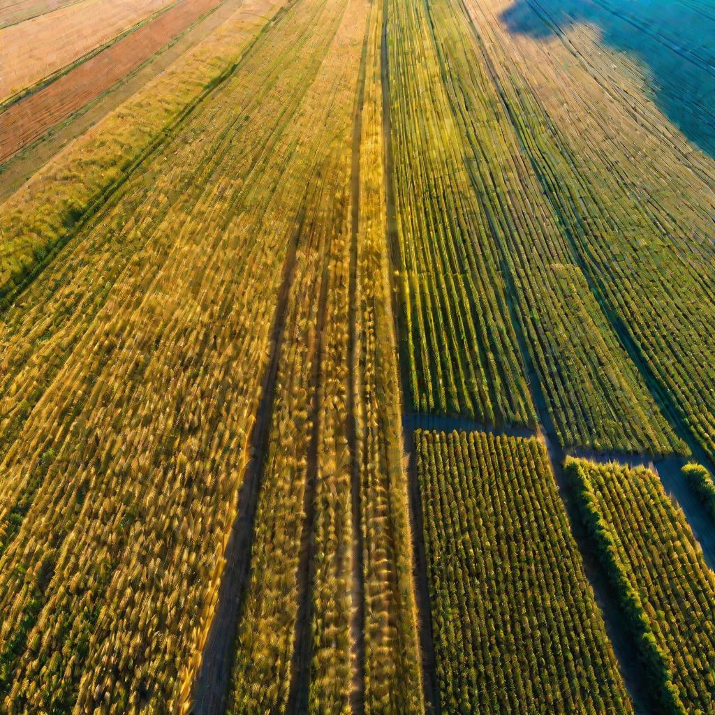
[[[79,64],[0,114],[0,164],[92,102],[221,0],[182,0],[154,21]]]

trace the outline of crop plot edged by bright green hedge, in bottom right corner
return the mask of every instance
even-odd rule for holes
[[[684,514],[651,470],[569,460],[566,472],[662,711],[714,712],[715,574]]]

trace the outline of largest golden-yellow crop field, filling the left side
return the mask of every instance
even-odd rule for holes
[[[292,6],[6,312],[6,711],[187,704],[302,204],[314,117],[289,122],[320,7]]]

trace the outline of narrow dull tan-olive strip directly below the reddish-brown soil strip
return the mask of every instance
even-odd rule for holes
[[[4,201],[38,169],[49,162],[66,144],[84,134],[109,112],[119,107],[129,97],[142,89],[147,82],[167,69],[184,52],[199,44],[217,27],[232,16],[243,0],[224,0],[217,9],[199,18],[192,26],[175,36],[169,44],[159,49],[157,54],[144,61],[141,66],[129,71],[124,78],[107,89],[73,114],[57,122],[36,141],[26,144],[6,163],[0,164],[0,201]],[[0,119],[3,115],[0,114]],[[0,153],[4,153],[0,150]],[[0,160],[1,161],[1,160]]]

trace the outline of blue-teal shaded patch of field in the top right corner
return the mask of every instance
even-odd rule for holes
[[[715,158],[715,0],[515,0],[500,20],[534,39],[596,27],[644,66],[661,112]]]

